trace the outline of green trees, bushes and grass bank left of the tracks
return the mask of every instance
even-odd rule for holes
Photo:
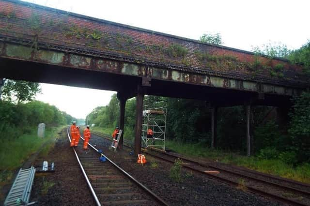
[[[31,101],[39,90],[37,83],[4,81],[0,93],[0,186],[11,180],[14,170],[31,154],[47,154],[62,125],[74,119],[55,106]],[[37,125],[42,122],[46,123],[45,137],[39,138]]]

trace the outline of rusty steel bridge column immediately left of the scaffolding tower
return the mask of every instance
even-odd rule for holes
[[[135,134],[135,155],[141,151],[141,134],[142,134],[142,112],[143,112],[143,91],[138,87],[136,96],[136,134]]]

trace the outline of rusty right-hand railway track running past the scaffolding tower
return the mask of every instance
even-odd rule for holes
[[[96,133],[96,135],[111,141],[111,138],[107,135],[98,133]],[[128,143],[126,144],[127,145],[124,146],[131,147]],[[224,163],[197,162],[170,152],[164,153],[156,150],[145,150],[144,153],[171,163],[174,163],[177,159],[181,159],[183,166],[187,169],[202,173],[236,187],[242,186],[247,191],[258,193],[286,204],[298,206],[310,205],[310,185],[305,183],[275,177],[249,169],[240,169],[236,166],[226,165]],[[208,171],[211,170],[217,170],[220,173],[209,173]]]

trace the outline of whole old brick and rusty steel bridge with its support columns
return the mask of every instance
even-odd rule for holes
[[[288,107],[309,88],[302,68],[286,59],[19,0],[0,0],[0,78],[117,91],[121,129],[126,99],[136,96],[136,154],[145,94],[206,101],[212,147],[217,108],[246,105],[250,155],[252,106]]]

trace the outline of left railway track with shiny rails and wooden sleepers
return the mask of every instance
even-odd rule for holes
[[[67,134],[71,141],[68,130]],[[80,141],[73,150],[96,205],[167,205],[108,157],[104,156],[107,162],[99,162],[101,153],[88,145],[89,148],[84,150]]]

